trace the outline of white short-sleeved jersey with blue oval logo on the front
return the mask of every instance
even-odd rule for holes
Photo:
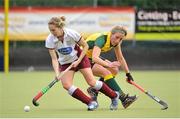
[[[45,41],[45,47],[55,49],[58,54],[58,61],[61,65],[72,63],[78,59],[75,46],[81,36],[74,30],[64,28],[64,40],[59,41],[53,34],[49,34]]]

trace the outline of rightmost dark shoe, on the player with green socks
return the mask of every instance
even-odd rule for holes
[[[122,101],[122,105],[123,107],[126,109],[127,107],[129,107],[134,101],[137,100],[136,95],[134,96],[129,96],[129,94],[125,95],[124,97],[124,101]]]

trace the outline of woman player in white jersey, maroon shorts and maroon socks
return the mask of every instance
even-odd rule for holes
[[[80,71],[86,82],[94,89],[99,90],[112,100],[111,107],[117,109],[119,94],[111,90],[105,83],[94,79],[90,61],[85,55],[88,44],[74,30],[64,28],[65,17],[53,17],[48,23],[50,34],[46,39],[45,46],[49,49],[52,66],[56,77],[61,71],[72,68],[61,77],[61,83],[68,93],[88,105],[88,110],[97,108],[97,102],[84,94],[79,88],[73,85],[74,73]],[[80,49],[80,46],[83,49]],[[57,53],[57,54],[56,54]],[[57,56],[58,55],[58,56]],[[59,65],[60,64],[60,65]]]

